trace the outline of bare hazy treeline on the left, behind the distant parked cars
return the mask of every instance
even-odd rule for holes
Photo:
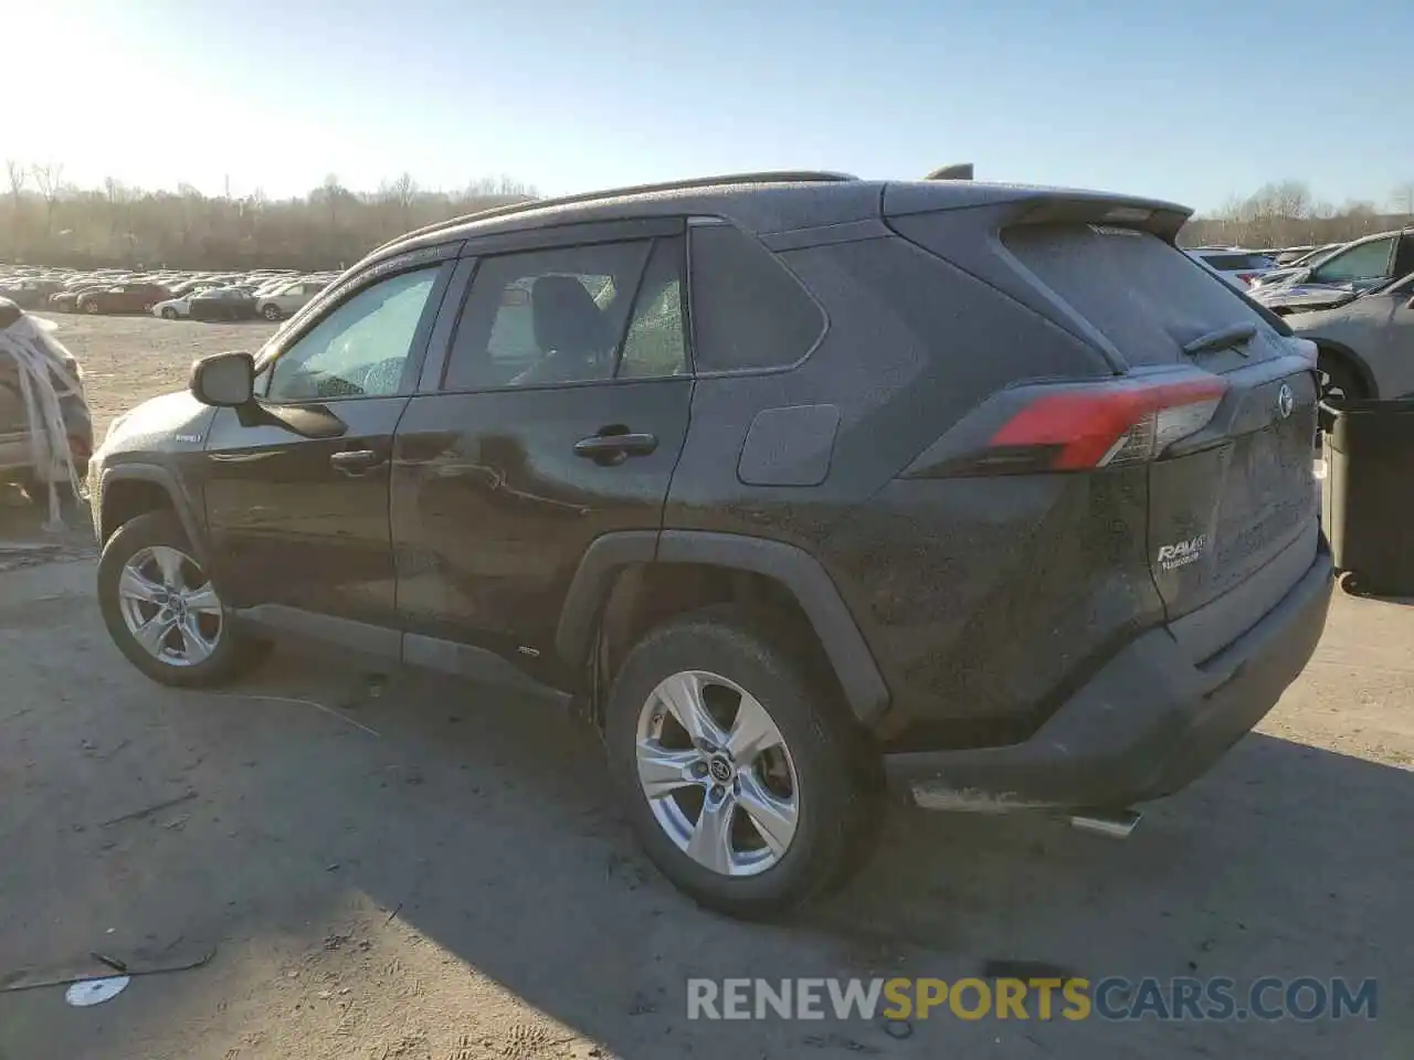
[[[510,178],[454,191],[411,175],[354,191],[329,175],[304,198],[202,195],[189,185],[143,191],[109,179],[64,182],[62,167],[6,163],[0,261],[143,269],[338,269],[409,229],[534,198]]]

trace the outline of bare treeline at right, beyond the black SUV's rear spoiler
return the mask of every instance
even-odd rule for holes
[[[1246,247],[1345,243],[1406,225],[1414,225],[1414,181],[1396,188],[1384,209],[1374,202],[1336,208],[1318,202],[1301,181],[1282,181],[1247,198],[1233,198],[1212,216],[1193,218],[1179,242]]]

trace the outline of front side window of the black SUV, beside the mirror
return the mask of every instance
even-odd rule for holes
[[[393,276],[341,302],[280,355],[266,396],[303,401],[396,394],[437,271]]]

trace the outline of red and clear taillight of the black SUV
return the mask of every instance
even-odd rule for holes
[[[1182,382],[1102,383],[1041,394],[991,437],[971,473],[1087,471],[1158,457],[1213,418],[1227,384],[1217,377]]]

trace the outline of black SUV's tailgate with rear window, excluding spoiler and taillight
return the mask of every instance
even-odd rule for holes
[[[1025,225],[1004,243],[1130,373],[1196,367],[1225,384],[1216,408],[1199,410],[1212,414],[1206,427],[1150,465],[1150,565],[1169,619],[1254,579],[1256,622],[1315,560],[1316,383],[1305,343],[1148,232]],[[1169,428],[1182,434],[1182,424],[1155,425]],[[1240,632],[1208,630],[1213,649]]]

